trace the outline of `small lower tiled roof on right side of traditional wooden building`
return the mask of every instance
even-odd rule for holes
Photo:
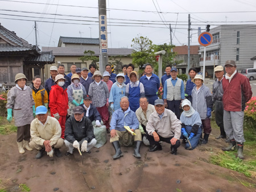
[[[55,57],[52,55],[52,51],[41,52],[38,56],[26,57],[25,62],[48,62],[52,64],[55,62]]]

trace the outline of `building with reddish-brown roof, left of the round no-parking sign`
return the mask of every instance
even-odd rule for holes
[[[177,55],[175,56],[175,60],[183,61],[176,66],[177,69],[181,69],[182,73],[186,73],[186,68],[188,66],[188,45],[176,46],[174,48],[174,52],[177,53]],[[191,45],[190,46],[190,67],[196,68],[199,72],[201,70],[199,62],[200,62],[199,45]]]

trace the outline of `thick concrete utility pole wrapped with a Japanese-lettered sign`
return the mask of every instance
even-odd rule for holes
[[[106,19],[106,0],[98,0],[98,18],[100,28],[100,72],[103,73],[108,64],[108,33]]]

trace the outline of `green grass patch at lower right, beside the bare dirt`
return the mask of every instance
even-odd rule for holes
[[[236,152],[225,151],[223,153],[218,153],[217,155],[210,156],[210,162],[215,165],[228,168],[239,173],[245,174],[246,177],[251,177],[256,175],[256,160],[241,160],[235,155]]]

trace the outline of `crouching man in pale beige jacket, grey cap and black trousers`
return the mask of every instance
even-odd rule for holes
[[[162,150],[159,141],[171,143],[171,154],[177,155],[180,147],[181,122],[171,110],[164,106],[163,99],[156,99],[155,110],[148,119],[146,136],[150,141],[150,152]]]

